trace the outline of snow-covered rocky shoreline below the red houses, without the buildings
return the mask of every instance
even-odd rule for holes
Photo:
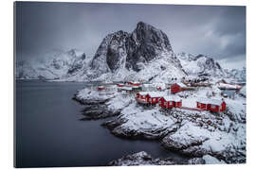
[[[192,101],[193,97],[215,90],[204,88],[186,100]],[[102,126],[117,137],[159,140],[170,151],[207,158],[206,163],[246,162],[246,98],[243,96],[237,95],[235,100],[227,98],[228,110],[220,115],[141,106],[134,95],[102,94],[88,88],[76,93],[74,99],[85,106],[82,114],[86,120],[112,117]]]

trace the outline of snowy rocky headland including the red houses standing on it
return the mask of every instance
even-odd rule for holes
[[[214,82],[214,83],[213,83]],[[206,163],[246,161],[246,85],[217,78],[91,84],[76,93],[86,119],[125,138],[160,140],[162,146]]]

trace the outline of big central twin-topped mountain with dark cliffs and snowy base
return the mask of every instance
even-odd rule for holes
[[[125,76],[132,74],[147,79],[152,78],[149,76],[159,75],[163,70],[167,69],[165,71],[167,72],[171,67],[172,73],[174,70],[178,72],[175,75],[185,75],[167,35],[160,29],[143,22],[137,23],[132,33],[120,30],[107,35],[90,66],[91,70],[86,71],[89,78],[106,75],[113,78],[127,78]],[[102,76],[103,74],[105,76]]]

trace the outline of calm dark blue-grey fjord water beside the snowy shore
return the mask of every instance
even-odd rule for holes
[[[84,87],[81,82],[16,80],[16,167],[101,166],[142,150],[184,159],[157,141],[117,138],[101,127],[105,120],[81,121],[82,105],[72,96]]]

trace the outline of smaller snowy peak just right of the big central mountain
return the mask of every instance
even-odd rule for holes
[[[189,75],[206,75],[206,76],[224,76],[224,71],[220,64],[205,55],[193,56],[192,54],[177,54],[185,72]]]

